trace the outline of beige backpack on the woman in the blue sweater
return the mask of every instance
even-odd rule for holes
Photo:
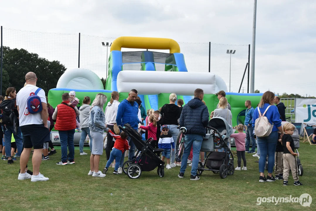
[[[257,107],[259,112],[259,117],[255,121],[255,134],[257,137],[266,137],[272,132],[273,124],[271,125],[268,118],[264,116],[270,106],[265,109],[263,114],[261,114],[259,107]]]

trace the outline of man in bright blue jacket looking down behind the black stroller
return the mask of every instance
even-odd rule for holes
[[[128,94],[128,97],[124,99],[120,104],[118,108],[118,113],[116,115],[116,123],[117,125],[124,126],[124,124],[128,123],[131,125],[132,128],[135,130],[138,130],[138,104],[135,102],[135,99],[137,97],[137,90],[132,89],[130,93]],[[131,160],[133,156],[135,156],[135,145],[133,143],[133,140],[131,140],[131,137],[127,137],[127,140],[129,142],[129,146],[131,146],[129,153],[128,153],[128,159]],[[124,163],[124,156],[121,158],[121,162],[119,164],[118,172],[122,173],[122,165]]]

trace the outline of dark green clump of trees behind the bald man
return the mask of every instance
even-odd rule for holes
[[[24,86],[26,73],[34,72],[38,80],[36,85],[46,94],[48,90],[56,88],[58,79],[66,71],[59,61],[51,62],[25,49],[9,47],[3,47],[3,68],[9,75],[9,86],[14,86],[17,91]]]

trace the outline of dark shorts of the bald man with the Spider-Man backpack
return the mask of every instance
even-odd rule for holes
[[[23,125],[20,127],[23,136],[23,147],[43,149],[43,143],[49,142],[49,129],[41,125]]]

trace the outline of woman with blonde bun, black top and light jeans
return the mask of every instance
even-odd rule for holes
[[[180,108],[175,104],[176,101],[177,101],[177,95],[175,93],[171,93],[169,95],[169,104],[163,105],[160,111],[161,125],[169,126],[169,133],[171,133],[174,143],[177,143],[177,136],[179,133],[178,119],[180,118],[180,115],[181,115]],[[161,131],[161,128],[160,128],[160,131]],[[172,168],[177,166],[177,163],[174,163],[175,155],[176,155],[176,150],[171,151],[170,166]]]

